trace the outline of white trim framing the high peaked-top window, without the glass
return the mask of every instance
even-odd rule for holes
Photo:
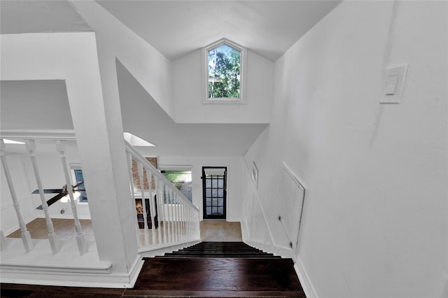
[[[217,48],[220,45],[229,45],[231,48],[236,48],[241,51],[241,70],[240,70],[240,93],[238,99],[220,98],[209,99],[209,57],[208,52],[211,48]],[[228,39],[221,39],[215,43],[211,43],[202,48],[202,104],[246,104],[246,71],[247,69],[247,49],[241,45],[229,41]]]

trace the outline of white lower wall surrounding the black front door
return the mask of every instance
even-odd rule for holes
[[[238,222],[241,218],[241,166],[242,157],[158,157],[159,165],[192,166],[193,204],[202,212],[202,166],[227,166],[227,220]]]

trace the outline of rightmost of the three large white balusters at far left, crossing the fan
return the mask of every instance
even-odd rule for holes
[[[57,152],[59,152],[59,157],[61,157],[62,167],[64,168],[65,183],[67,185],[67,191],[69,192],[71,212],[73,213],[73,223],[76,229],[76,243],[78,243],[79,254],[83,255],[87,252],[87,245],[85,244],[83,230],[81,229],[81,224],[78,218],[78,207],[76,206],[75,197],[73,197],[71,175],[65,157],[65,144],[64,141],[55,141],[55,143]]]

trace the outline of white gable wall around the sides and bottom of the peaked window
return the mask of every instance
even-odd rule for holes
[[[173,62],[174,120],[178,123],[269,123],[274,63],[247,51],[246,104],[202,104],[202,53]]]

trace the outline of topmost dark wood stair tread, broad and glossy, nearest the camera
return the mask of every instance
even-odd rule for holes
[[[144,274],[139,276],[132,289],[140,293],[145,290],[223,291],[234,294],[235,291],[302,290],[291,259],[146,258],[142,272]]]

